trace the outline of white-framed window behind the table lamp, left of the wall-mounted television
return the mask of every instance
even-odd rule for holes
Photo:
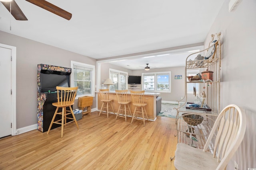
[[[128,80],[128,73],[122,72],[119,70],[110,69],[110,79],[114,83],[110,85],[110,91],[115,90],[126,90],[127,89],[127,80]]]

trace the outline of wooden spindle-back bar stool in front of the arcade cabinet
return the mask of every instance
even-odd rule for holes
[[[63,127],[68,123],[76,122],[76,117],[73,113],[72,105],[74,105],[74,100],[76,98],[76,92],[78,87],[56,87],[57,89],[57,99],[58,102],[52,103],[53,106],[56,106],[55,113],[52,117],[52,121],[50,127],[47,131],[49,134],[50,129],[53,123],[61,125],[61,137],[63,137]],[[62,112],[58,112],[58,109],[62,107]],[[70,110],[66,110],[66,107],[69,107]],[[72,114],[72,117],[67,117],[67,115]],[[56,115],[62,115],[62,118],[54,121]],[[72,121],[67,122],[67,119],[71,119]],[[76,122],[77,129],[79,129],[78,124]]]

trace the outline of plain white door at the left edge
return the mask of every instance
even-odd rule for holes
[[[0,47],[0,137],[11,135],[11,53]]]

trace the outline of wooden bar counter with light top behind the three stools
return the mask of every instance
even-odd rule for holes
[[[144,102],[147,103],[147,105],[145,106],[145,109],[146,109],[146,112],[148,115],[148,119],[150,121],[155,121],[155,119],[156,119],[156,98],[159,95],[160,95],[160,93],[153,93],[153,92],[145,92],[144,93]],[[109,92],[109,98],[113,99],[112,105],[114,107],[115,113],[117,113],[119,104],[118,104],[118,100],[116,97],[116,92]],[[132,97],[129,92],[127,93],[127,100],[132,101]],[[100,111],[101,106],[102,106],[102,102],[100,101],[100,96],[98,94],[98,110],[99,111]],[[132,102],[130,103],[129,106],[130,106],[132,114],[133,114],[135,106],[132,105]]]

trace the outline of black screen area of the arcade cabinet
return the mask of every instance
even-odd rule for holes
[[[47,72],[48,71],[48,72]],[[41,71],[41,92],[55,92],[56,86],[70,87],[70,73],[42,70]]]

